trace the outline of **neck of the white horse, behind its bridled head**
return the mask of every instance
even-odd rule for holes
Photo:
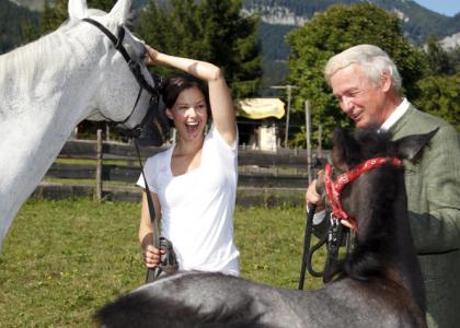
[[[26,86],[16,82],[24,79],[12,65],[21,56],[11,52],[0,57],[0,77],[3,77],[0,81],[0,247],[21,204],[41,181],[74,126],[90,115],[89,108],[94,108],[90,104],[94,89],[99,87],[94,68],[105,52],[103,46],[97,46],[100,51],[88,52],[91,40],[55,35],[45,38],[51,39],[28,45],[39,47],[44,42],[53,44],[55,38],[54,46],[48,46],[48,51],[42,51],[35,58],[37,62],[30,66],[33,71],[26,72],[30,74]],[[41,60],[53,60],[53,65],[41,65]],[[46,71],[41,71],[43,67]]]

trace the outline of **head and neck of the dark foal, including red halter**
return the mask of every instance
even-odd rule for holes
[[[359,281],[389,279],[410,291],[421,291],[411,296],[423,311],[423,283],[409,224],[401,160],[416,161],[436,132],[391,141],[389,133],[377,130],[347,132],[337,128],[329,173],[329,180],[340,190],[341,209],[332,208],[342,210],[355,229],[354,250],[343,263],[343,273]],[[331,183],[322,187],[327,189],[327,185]],[[329,197],[327,203],[334,199]]]

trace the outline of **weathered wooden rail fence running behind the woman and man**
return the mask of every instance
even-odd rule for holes
[[[140,148],[142,163],[165,149],[166,147]],[[322,167],[327,154],[327,151],[323,151],[321,156],[317,152],[312,153],[310,162],[313,174]],[[55,162],[46,173],[47,179],[36,189],[36,197],[59,198],[92,194],[96,199],[140,199],[139,189],[135,187],[140,166],[134,144],[106,142],[102,138],[97,141],[69,140],[58,159],[72,161]],[[308,162],[306,150],[281,149],[275,153],[240,147],[238,198],[250,204],[260,201],[271,203],[277,198],[292,202],[294,192],[297,195],[297,201],[294,202],[301,202],[309,180]],[[53,183],[49,183],[49,178]],[[56,179],[90,179],[94,183],[72,186],[56,183]],[[116,184],[111,184],[113,181]]]

